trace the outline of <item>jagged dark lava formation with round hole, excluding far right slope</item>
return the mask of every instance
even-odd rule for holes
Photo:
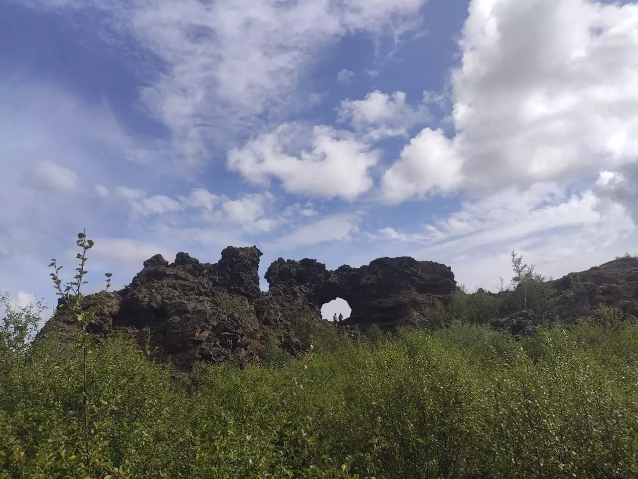
[[[299,319],[323,321],[322,305],[337,297],[352,308],[348,323],[390,327],[424,317],[434,300],[447,303],[456,287],[449,267],[410,257],[380,258],[368,266],[336,271],[315,259],[280,258],[268,268],[270,289],[262,293],[261,255],[256,247],[228,247],[215,264],[186,253],[178,253],[169,264],[155,255],[144,261],[130,285],[110,294],[107,306],[97,310],[91,332],[128,331],[142,347],[144,328],[149,328],[156,356],[189,370],[198,360],[225,361],[233,353],[255,359],[266,326],[278,331],[287,351],[297,354]],[[96,305],[96,298],[89,296],[87,302]],[[61,304],[39,336],[58,332],[68,337],[77,328]]]

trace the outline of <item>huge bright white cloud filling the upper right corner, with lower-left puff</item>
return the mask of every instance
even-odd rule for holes
[[[388,199],[450,186],[422,162],[452,163],[459,187],[489,191],[637,161],[638,4],[472,0],[459,47],[456,134],[420,133],[420,154],[401,155],[383,178]]]

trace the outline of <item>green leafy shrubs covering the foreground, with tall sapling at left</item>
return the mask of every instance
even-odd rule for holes
[[[59,293],[88,324],[82,255]],[[459,291],[436,331],[306,324],[302,358],[177,374],[122,336],[33,344],[37,306],[4,300],[1,479],[638,476],[638,325],[609,308],[517,342]]]

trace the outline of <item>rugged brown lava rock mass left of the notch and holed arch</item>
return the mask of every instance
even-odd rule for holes
[[[216,264],[199,262],[186,253],[178,253],[168,264],[155,255],[144,261],[144,269],[130,285],[110,294],[107,308],[98,309],[91,332],[129,331],[141,347],[147,338],[144,328],[149,328],[150,346],[157,356],[170,358],[182,370],[198,360],[226,360],[261,338],[251,302],[261,294],[261,254],[256,247],[229,247]],[[96,299],[89,296],[88,301]],[[77,328],[78,322],[59,305],[40,336],[54,331],[69,335]]]

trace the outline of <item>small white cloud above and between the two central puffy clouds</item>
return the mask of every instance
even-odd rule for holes
[[[429,119],[426,103],[408,105],[403,91],[387,95],[375,90],[363,100],[343,100],[338,109],[338,121],[351,123],[355,130],[365,133],[369,141],[405,136],[408,128]]]

